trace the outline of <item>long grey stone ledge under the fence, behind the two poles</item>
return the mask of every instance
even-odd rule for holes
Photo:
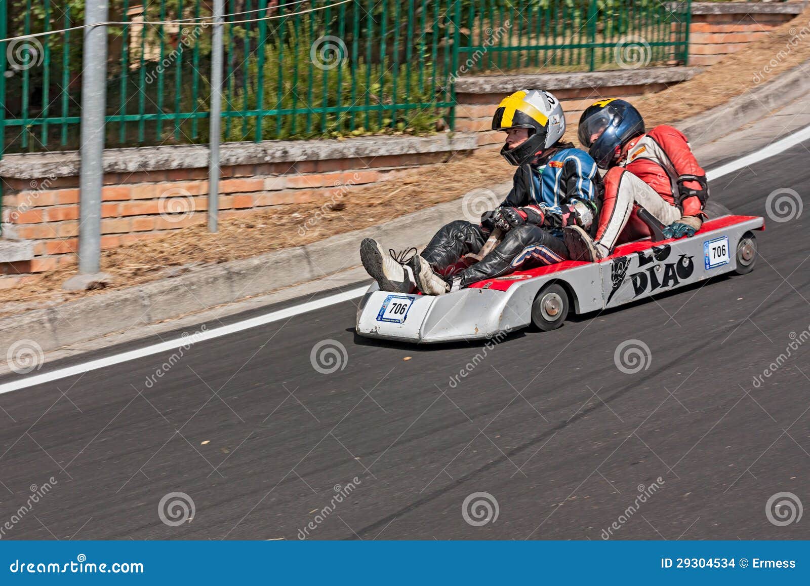
[[[261,143],[222,143],[220,165],[260,165],[300,160],[354,159],[363,156],[471,151],[475,135],[442,133],[433,136],[364,136],[357,139],[266,140]],[[204,145],[110,148],[104,151],[104,173],[136,173],[171,169],[207,169]],[[79,152],[23,153],[0,160],[0,177],[39,179],[79,175]]]

